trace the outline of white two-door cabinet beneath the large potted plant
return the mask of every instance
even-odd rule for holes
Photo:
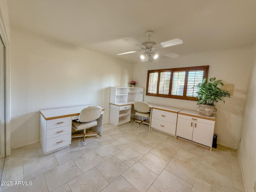
[[[205,145],[212,149],[215,117],[199,115],[196,111],[178,112],[176,136]]]

